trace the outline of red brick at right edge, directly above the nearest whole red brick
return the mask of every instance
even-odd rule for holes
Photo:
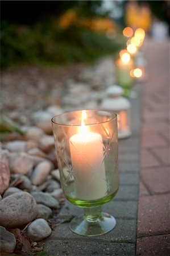
[[[144,169],[140,173],[152,195],[170,192],[169,167]]]

